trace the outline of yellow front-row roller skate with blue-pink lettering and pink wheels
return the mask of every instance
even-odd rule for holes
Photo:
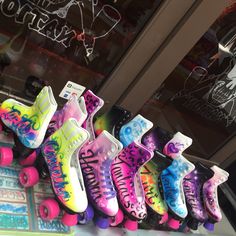
[[[62,223],[72,226],[77,224],[77,214],[86,210],[88,200],[77,153],[88,139],[89,133],[70,118],[42,144],[45,165],[38,164],[21,171],[20,183],[31,187],[38,182],[42,168],[47,168],[55,199],[46,199],[40,204],[43,220],[57,217],[61,206],[65,210]]]

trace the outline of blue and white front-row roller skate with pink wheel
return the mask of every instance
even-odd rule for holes
[[[194,168],[191,162],[180,155],[161,173],[160,186],[169,214],[167,224],[172,229],[178,229],[180,221],[188,215],[183,191],[183,179]]]

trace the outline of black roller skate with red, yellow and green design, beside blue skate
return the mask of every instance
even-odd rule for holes
[[[160,194],[158,179],[161,172],[170,166],[171,163],[171,158],[168,158],[156,150],[154,151],[154,157],[147,162],[140,171],[145,192],[145,201],[149,213],[145,223],[153,228],[168,220],[168,208]]]

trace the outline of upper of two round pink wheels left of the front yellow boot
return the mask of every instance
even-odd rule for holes
[[[25,167],[20,171],[19,180],[22,186],[32,187],[39,181],[39,173],[33,166]]]

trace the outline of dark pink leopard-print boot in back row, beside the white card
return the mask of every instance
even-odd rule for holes
[[[102,108],[102,106],[104,105],[104,101],[96,96],[91,90],[87,90],[84,93],[83,97],[85,100],[88,116],[82,127],[88,130],[90,134],[90,141],[92,141],[95,139],[93,117]]]

